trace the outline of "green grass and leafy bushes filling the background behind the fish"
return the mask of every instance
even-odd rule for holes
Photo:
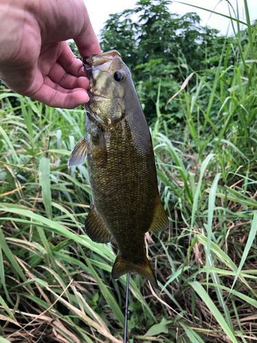
[[[130,278],[127,342],[256,342],[256,23],[245,0],[245,29],[231,8],[234,35],[220,36],[168,3],[139,0],[101,32],[132,70],[171,220],[145,239],[158,289]],[[122,343],[117,249],[84,235],[88,171],[67,169],[84,108],[3,84],[0,101],[0,342]]]

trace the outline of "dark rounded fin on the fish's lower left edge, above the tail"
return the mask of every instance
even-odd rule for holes
[[[86,217],[85,230],[86,235],[96,243],[108,243],[112,240],[112,234],[104,224],[95,206]]]

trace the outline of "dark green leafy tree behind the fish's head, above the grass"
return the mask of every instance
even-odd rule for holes
[[[168,99],[192,71],[217,67],[226,39],[218,36],[217,29],[202,27],[197,13],[180,16],[169,11],[169,4],[169,0],[139,0],[132,10],[110,14],[101,31],[101,49],[117,49],[130,67],[149,121],[156,116],[159,82],[159,106],[166,113]],[[177,122],[180,106],[173,102],[168,109]]]

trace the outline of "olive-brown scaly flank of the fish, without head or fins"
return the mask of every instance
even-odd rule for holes
[[[154,169],[154,161],[151,156],[146,158],[132,144],[127,116],[116,130],[112,130],[110,138],[107,137],[110,147],[106,149],[106,165],[88,148],[88,171],[93,203],[113,233],[121,256],[125,251],[127,261],[138,263],[144,254],[142,241],[151,226],[155,206],[153,200],[158,193],[154,187],[154,173],[148,172]],[[149,144],[149,152],[151,149]],[[137,228],[133,235],[132,228]]]

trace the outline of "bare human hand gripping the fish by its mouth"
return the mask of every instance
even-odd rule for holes
[[[43,104],[75,108],[88,102],[81,56],[100,54],[83,0],[0,0],[0,79]]]

